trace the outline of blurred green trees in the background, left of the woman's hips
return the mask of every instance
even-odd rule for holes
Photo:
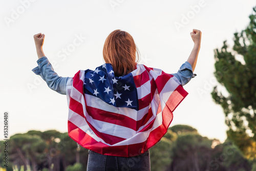
[[[9,140],[8,165],[15,166],[15,170],[65,170],[79,160],[88,160],[88,150],[77,148],[68,133],[32,130],[26,134],[15,134]],[[87,163],[83,162],[82,167],[86,166]]]

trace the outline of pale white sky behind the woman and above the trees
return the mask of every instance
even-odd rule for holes
[[[104,63],[102,49],[114,30],[130,33],[147,67],[176,73],[194,43],[189,33],[202,31],[197,76],[184,89],[189,93],[174,111],[170,126],[186,124],[210,139],[226,139],[221,106],[211,98],[214,49],[233,33],[245,29],[255,1],[0,1],[0,140],[4,113],[9,112],[9,135],[29,130],[68,132],[66,95],[48,88],[31,70],[37,66],[33,35],[44,33],[44,52],[62,77],[94,70]]]

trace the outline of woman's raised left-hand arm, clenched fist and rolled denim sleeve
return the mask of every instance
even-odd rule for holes
[[[50,89],[60,93],[66,94],[66,84],[69,77],[60,77],[58,74],[53,70],[53,67],[50,61],[45,56],[44,52],[42,51],[42,45],[44,45],[45,35],[38,33],[34,35],[36,52],[38,56],[37,60],[37,67],[34,68],[32,71],[36,75],[40,75],[42,79],[47,82],[47,85]]]

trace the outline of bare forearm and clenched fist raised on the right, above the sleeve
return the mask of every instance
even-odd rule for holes
[[[194,48],[191,51],[191,53],[187,59],[187,62],[189,62],[190,65],[192,66],[193,72],[197,65],[197,57],[198,57],[200,46],[201,46],[201,35],[202,35],[201,31],[196,30],[196,29],[193,29],[193,32],[190,33],[190,36],[191,36],[192,40],[194,41]]]

